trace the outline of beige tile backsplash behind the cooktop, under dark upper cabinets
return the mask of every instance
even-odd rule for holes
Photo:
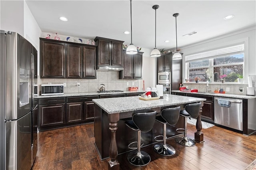
[[[122,90],[127,91],[128,87],[140,87],[139,80],[119,79],[118,71],[97,71],[97,79],[48,79],[39,78],[38,88],[41,93],[41,84],[63,84],[64,93],[86,93],[96,92],[104,84],[105,90]],[[39,76],[38,76],[39,77]],[[77,84],[80,83],[80,86]]]

